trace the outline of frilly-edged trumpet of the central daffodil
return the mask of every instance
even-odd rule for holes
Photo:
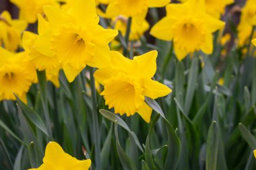
[[[108,108],[115,108],[115,113],[131,116],[142,105],[144,100],[142,91],[135,80],[119,75],[106,81],[101,95],[104,95]]]

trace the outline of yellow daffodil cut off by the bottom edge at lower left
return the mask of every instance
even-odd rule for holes
[[[88,170],[91,166],[91,160],[79,161],[63,151],[63,148],[57,142],[49,142],[45,149],[43,163],[38,170]],[[35,168],[29,170],[36,170]]]

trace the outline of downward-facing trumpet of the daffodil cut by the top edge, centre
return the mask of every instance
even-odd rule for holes
[[[148,1],[146,0],[117,0],[116,5],[121,14],[127,17],[138,15],[148,9]]]

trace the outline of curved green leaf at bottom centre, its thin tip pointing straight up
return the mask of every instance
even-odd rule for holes
[[[137,169],[135,166],[135,163],[131,160],[131,158],[123,151],[123,148],[121,147],[119,143],[119,136],[117,132],[118,124],[115,122],[115,136],[116,136],[116,143],[117,143],[117,153],[119,155],[119,159],[123,165],[123,169],[125,170],[135,170]]]

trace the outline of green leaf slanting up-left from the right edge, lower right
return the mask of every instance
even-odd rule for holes
[[[249,144],[250,148],[254,150],[256,148],[256,138],[251,134],[251,132],[243,125],[239,124],[239,130],[243,136],[243,138],[247,141]]]

